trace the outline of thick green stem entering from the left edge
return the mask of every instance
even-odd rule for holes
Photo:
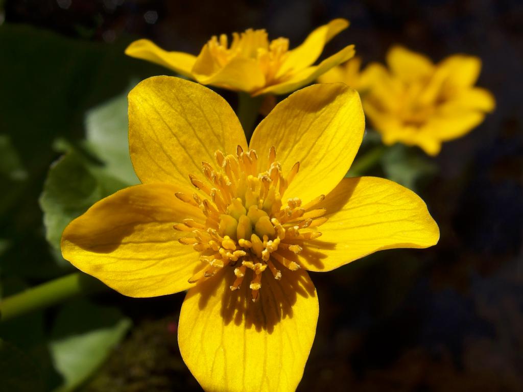
[[[0,322],[66,301],[75,295],[93,293],[106,287],[100,281],[81,272],[54,279],[0,302]]]

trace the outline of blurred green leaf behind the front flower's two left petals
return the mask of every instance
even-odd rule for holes
[[[60,248],[63,229],[98,200],[139,183],[128,142],[127,92],[90,110],[87,140],[79,147],[58,140],[67,152],[49,170],[40,197],[46,238]]]

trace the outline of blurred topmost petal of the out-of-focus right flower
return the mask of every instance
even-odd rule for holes
[[[386,55],[386,61],[391,71],[406,82],[427,77],[434,71],[434,65],[428,57],[401,46],[392,47]]]

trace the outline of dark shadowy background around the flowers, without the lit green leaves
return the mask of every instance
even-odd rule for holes
[[[129,42],[149,38],[197,54],[213,34],[254,27],[294,47],[337,17],[351,25],[327,54],[355,43],[364,64],[383,62],[401,43],[435,61],[476,55],[478,85],[493,92],[497,107],[444,145],[434,158],[438,173],[417,190],[440,226],[437,246],[311,274],[320,319],[298,390],[523,390],[523,3],[516,0],[5,1],[0,132],[12,138],[30,183],[1,211],[0,234],[14,241],[5,257],[17,260],[3,273],[27,269],[31,284],[56,274],[37,203],[59,156],[52,141],[81,139],[85,110],[133,78],[169,74],[125,57]],[[235,104],[234,94],[221,93]],[[134,327],[85,390],[199,390],[176,343],[183,294],[96,300],[121,307]]]

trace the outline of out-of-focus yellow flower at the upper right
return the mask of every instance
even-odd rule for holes
[[[363,96],[365,114],[385,144],[418,145],[437,155],[442,142],[468,133],[494,109],[492,94],[474,87],[477,57],[456,54],[433,64],[396,46],[386,61],[389,70],[380,64],[366,69],[370,89]]]

